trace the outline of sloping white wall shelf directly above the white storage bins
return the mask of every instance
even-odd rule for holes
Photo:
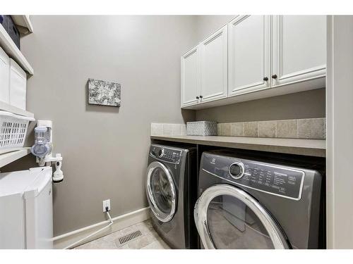
[[[23,70],[33,75],[34,70],[32,66],[20,52],[20,49],[18,49],[2,25],[0,26],[0,46],[9,57],[13,58],[13,60],[23,68]]]

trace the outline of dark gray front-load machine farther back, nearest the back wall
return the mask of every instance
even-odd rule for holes
[[[174,249],[197,247],[193,206],[197,198],[196,148],[151,144],[146,193],[152,225]]]

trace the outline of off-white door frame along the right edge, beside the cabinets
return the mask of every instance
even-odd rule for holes
[[[353,249],[353,15],[328,16],[326,222],[328,249]]]

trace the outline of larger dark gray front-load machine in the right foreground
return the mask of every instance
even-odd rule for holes
[[[322,174],[295,164],[204,152],[194,210],[203,248],[322,248]]]

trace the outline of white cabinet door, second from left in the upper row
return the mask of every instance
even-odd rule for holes
[[[201,101],[227,97],[227,25],[200,44]]]

